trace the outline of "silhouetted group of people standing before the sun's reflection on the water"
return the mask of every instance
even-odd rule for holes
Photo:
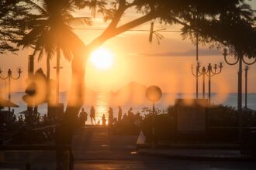
[[[113,124],[114,121],[117,121],[116,118],[114,118],[114,112],[112,110],[112,107],[109,107],[108,114],[109,114],[108,124],[111,125],[111,124]],[[121,121],[122,116],[123,116],[122,108],[119,106],[118,107],[118,121]],[[87,121],[87,117],[88,117],[88,114],[85,112],[84,107],[82,107],[81,112],[79,114],[79,123],[81,124],[81,126],[85,125],[85,122]],[[100,124],[99,122],[96,123],[96,121],[95,121],[95,108],[93,106],[91,107],[91,110],[90,110],[90,117],[91,117],[92,124],[94,124],[94,123],[95,124]],[[105,114],[102,115],[102,125],[106,125],[106,116],[105,116]]]

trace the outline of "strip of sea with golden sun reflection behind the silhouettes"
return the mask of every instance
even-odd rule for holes
[[[14,108],[15,114],[19,115],[19,112],[26,110],[26,104],[22,100],[22,96],[25,93],[16,92],[12,93],[12,102],[18,104],[19,107]],[[199,93],[199,98],[202,97],[202,93]],[[208,94],[206,93],[206,98]],[[166,110],[168,106],[173,105],[175,103],[175,98],[195,98],[195,93],[163,93],[161,100],[156,103],[156,107],[161,110]],[[60,102],[64,103],[64,106],[67,105],[67,93],[60,93]],[[244,102],[244,94],[243,94],[243,102]],[[237,93],[212,93],[212,103],[213,104],[223,104],[227,106],[237,107]],[[88,102],[85,101],[84,108],[87,113],[91,106],[95,107],[96,121],[100,121],[102,114],[106,114],[109,110],[109,107],[113,108],[114,116],[117,116],[118,112],[118,104],[112,104],[112,101],[109,100],[109,93],[95,93],[95,97]],[[143,107],[152,107],[152,104],[146,99],[140,103],[130,102],[126,100],[123,104],[120,105],[123,109],[123,113],[127,113],[130,107],[133,107],[133,113],[137,113],[143,110]],[[243,103],[244,107],[244,103]],[[253,110],[256,110],[256,93],[248,93],[247,94],[247,107]],[[5,108],[6,110],[7,108]],[[47,104],[40,104],[38,107],[38,111],[41,115],[47,114]],[[142,113],[143,114],[143,113]]]

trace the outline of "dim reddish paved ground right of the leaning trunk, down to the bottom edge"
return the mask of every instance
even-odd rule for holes
[[[256,169],[255,162],[178,160],[140,155],[133,138],[109,136],[107,128],[87,127],[74,136],[74,169]]]

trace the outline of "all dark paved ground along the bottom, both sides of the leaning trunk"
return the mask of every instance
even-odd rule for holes
[[[76,131],[72,150],[74,153],[74,169],[161,169],[161,170],[255,170],[256,162],[235,162],[235,161],[210,161],[164,158],[155,155],[140,155],[133,145],[134,137],[109,136],[106,127],[86,127]],[[19,153],[9,159],[18,163],[0,162],[0,170],[24,169],[28,159],[32,170],[53,170],[55,169],[55,154],[51,152],[29,152]],[[35,155],[34,157],[32,155]],[[21,159],[22,158],[22,159]],[[23,161],[20,161],[23,160]]]

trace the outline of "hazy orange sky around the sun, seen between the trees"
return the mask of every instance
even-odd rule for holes
[[[251,4],[256,8],[256,2]],[[82,12],[80,12],[81,14]],[[131,19],[133,12],[128,12],[126,19]],[[106,24],[102,19],[95,19],[92,28],[104,28]],[[82,28],[83,26],[75,26]],[[167,28],[178,30],[179,26],[161,26],[156,24],[155,29]],[[150,29],[149,22],[136,29]],[[90,42],[101,31],[75,30],[77,35],[85,42]],[[113,54],[113,65],[109,70],[97,70],[88,62],[86,69],[86,84],[95,91],[117,90],[130,81],[137,81],[146,86],[158,85],[165,92],[195,92],[195,78],[191,73],[191,64],[195,63],[195,46],[189,40],[183,40],[180,32],[161,32],[164,39],[157,44],[154,37],[152,44],[148,42],[148,32],[126,32],[106,42],[102,48],[108,49]],[[202,65],[208,63],[223,62],[223,56],[216,49],[210,50],[207,46],[199,46],[199,60]],[[0,55],[0,66],[6,75],[10,68],[16,72],[16,67],[22,66],[23,73],[20,80],[12,81],[12,90],[24,90],[27,78],[28,55],[32,49],[24,49],[18,55]],[[232,57],[230,56],[230,59]],[[46,61],[43,59],[36,63],[36,69],[43,67]],[[56,63],[56,58],[51,62],[51,68]],[[61,59],[61,90],[67,90],[71,78],[71,65],[65,59]],[[222,73],[213,76],[212,88],[214,92],[237,92],[237,66],[224,64]],[[248,91],[256,93],[256,64],[250,67],[248,72]],[[16,75],[16,73],[13,73]],[[51,70],[51,78],[55,78],[55,70]],[[244,75],[244,73],[243,73]],[[202,80],[199,80],[199,85]],[[0,80],[0,85],[5,88],[5,81]],[[201,86],[199,87],[202,91]],[[207,88],[206,88],[207,90]]]

